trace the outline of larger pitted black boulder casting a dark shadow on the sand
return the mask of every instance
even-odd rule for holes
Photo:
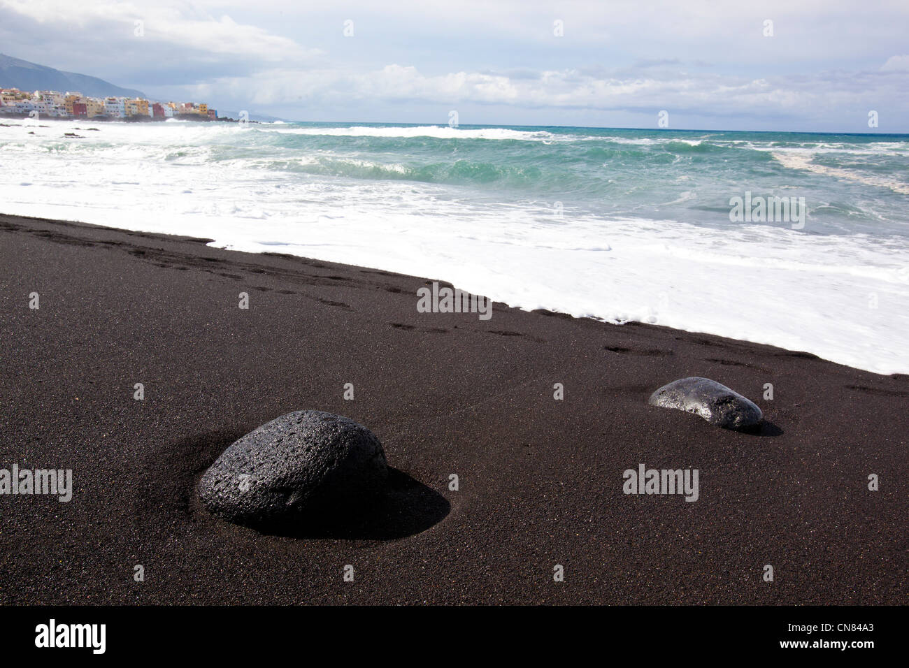
[[[296,411],[231,444],[199,483],[205,508],[233,523],[323,524],[363,513],[385,493],[375,434],[341,415]]]

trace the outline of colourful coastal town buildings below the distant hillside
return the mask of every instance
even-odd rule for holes
[[[0,115],[48,118],[95,118],[96,120],[217,121],[217,110],[204,102],[155,102],[141,97],[89,97],[67,91],[20,91],[0,88]]]

